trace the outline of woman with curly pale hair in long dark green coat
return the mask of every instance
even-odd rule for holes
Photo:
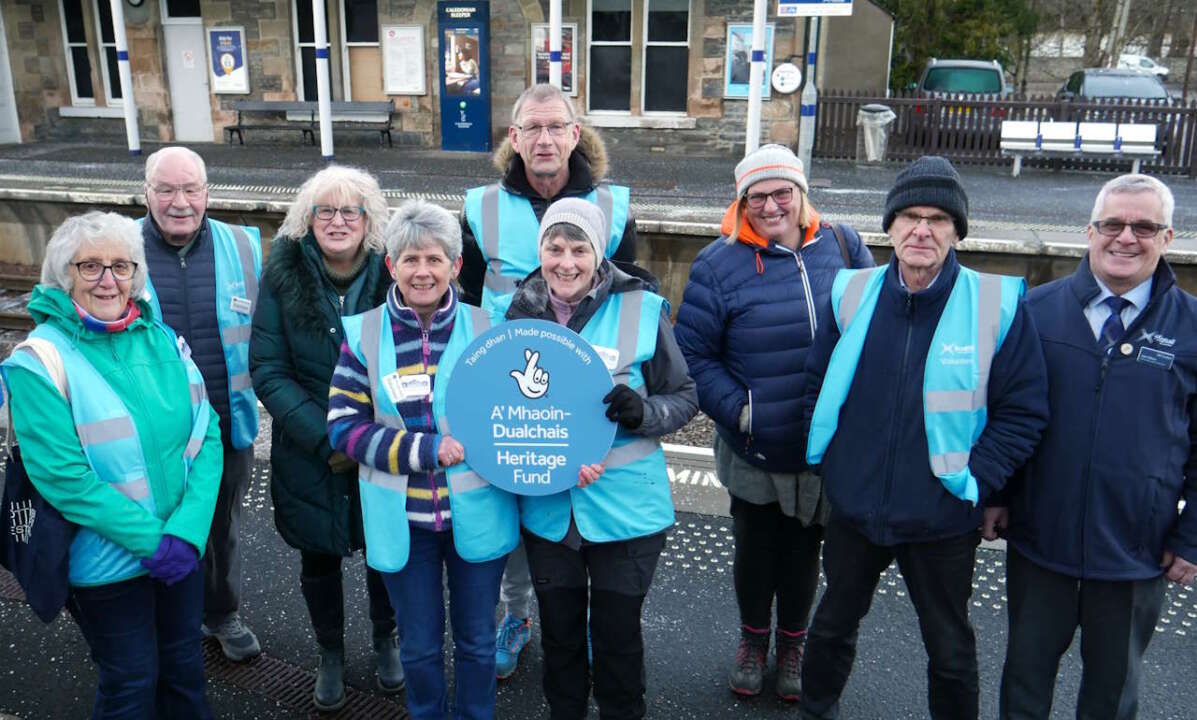
[[[262,273],[249,366],[254,391],[274,419],[271,495],[274,524],[299,550],[299,587],[311,616],[320,670],[312,701],[345,704],[345,604],[341,560],[363,548],[358,464],[333,450],[324,415],[341,349],[342,316],[383,301],[387,201],[378,182],[332,165],[299,188]],[[366,570],[376,682],[403,688],[395,618],[378,573]]]

